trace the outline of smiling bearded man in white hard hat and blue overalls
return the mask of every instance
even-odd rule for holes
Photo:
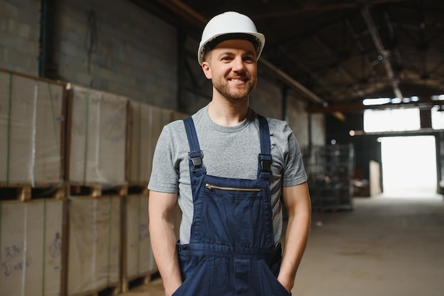
[[[198,51],[211,103],[165,126],[157,142],[150,237],[166,295],[280,296],[294,285],[309,235],[309,190],[287,123],[248,105],[264,42],[248,16],[212,18]],[[281,196],[289,215],[283,251]]]

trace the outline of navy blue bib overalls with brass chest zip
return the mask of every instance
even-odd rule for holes
[[[174,296],[289,295],[276,279],[282,249],[272,226],[270,132],[267,120],[258,118],[255,180],[207,175],[193,120],[184,120],[194,217],[189,244],[177,243],[183,283]]]

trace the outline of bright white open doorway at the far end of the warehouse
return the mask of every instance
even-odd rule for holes
[[[382,137],[384,195],[435,195],[437,187],[434,136]]]

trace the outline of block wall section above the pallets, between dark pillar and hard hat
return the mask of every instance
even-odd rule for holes
[[[62,79],[177,108],[172,25],[123,0],[59,0],[57,11],[55,56]]]

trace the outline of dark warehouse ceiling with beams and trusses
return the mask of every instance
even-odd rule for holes
[[[443,0],[133,2],[196,40],[216,14],[247,14],[266,38],[260,67],[313,111],[352,112],[365,98],[412,96],[429,108],[431,96],[444,93]]]

